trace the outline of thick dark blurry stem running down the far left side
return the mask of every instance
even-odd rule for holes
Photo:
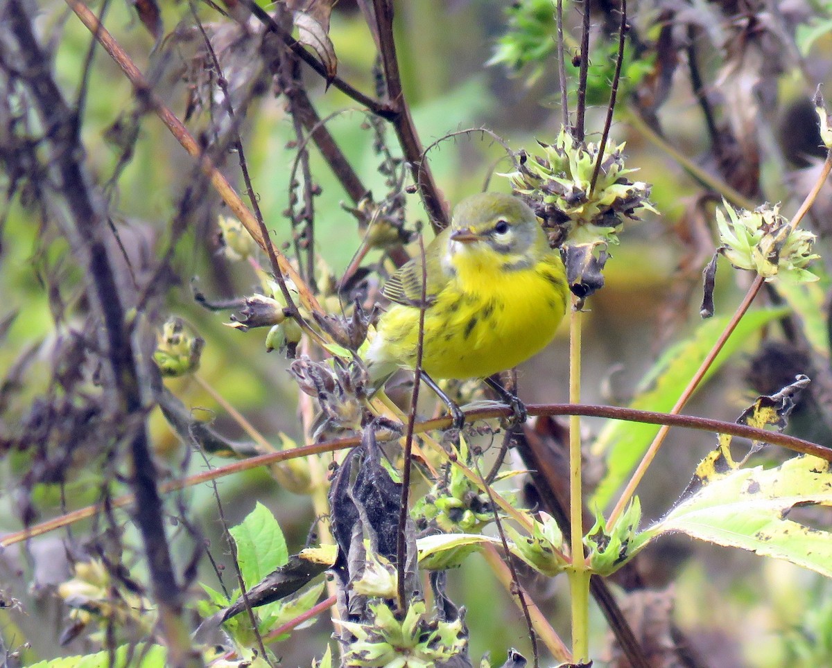
[[[133,515],[146,552],[153,598],[159,607],[159,620],[171,652],[173,666],[190,663],[190,642],[181,618],[181,589],[168,545],[156,466],[153,463],[146,429],[146,407],[142,394],[144,372],[133,348],[126,324],[121,291],[103,243],[106,215],[96,204],[90,181],[82,167],[84,149],[75,114],[67,105],[57,82],[52,78],[50,59],[37,43],[27,9],[20,0],[10,0],[0,22],[7,22],[17,45],[15,57],[25,72],[23,81],[32,94],[34,106],[49,128],[48,146],[52,166],[60,183],[68,216],[66,233],[72,252],[86,275],[86,294],[93,317],[99,320],[99,341],[106,359],[105,382],[114,388],[112,416],[126,422],[119,438],[129,446],[132,473],[130,486],[136,498]],[[97,19],[96,19],[97,22]],[[100,24],[99,24],[100,25]],[[102,32],[103,27],[98,32]]]

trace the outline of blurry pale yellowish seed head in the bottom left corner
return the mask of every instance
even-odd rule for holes
[[[103,622],[102,631],[97,635],[104,641],[103,628],[113,625],[119,629],[129,629],[131,636],[146,638],[151,636],[155,619],[148,615],[152,610],[151,602],[145,597],[116,587],[115,581],[99,560],[77,562],[73,568],[71,580],[62,582],[58,596],[69,606],[72,626],[64,632],[64,640],[69,642],[83,628],[94,621]]]

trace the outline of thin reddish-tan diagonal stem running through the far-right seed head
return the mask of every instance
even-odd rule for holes
[[[795,215],[789,222],[789,229],[794,230],[797,225],[800,224],[800,220],[808,213],[811,206],[815,203],[815,200],[820,193],[821,187],[824,185],[826,178],[830,174],[830,170],[832,170],[832,152],[828,153],[826,156],[826,161],[824,163],[824,168],[818,177],[818,180],[815,181],[815,186],[813,186],[812,190],[810,191],[809,195],[806,195],[805,200],[800,205],[800,208],[797,210]],[[693,375],[691,378],[690,383],[687,383],[687,387],[681,393],[681,397],[676,402],[676,405],[671,408],[671,415],[676,415],[681,412],[681,409],[684,408],[685,404],[687,403],[688,399],[691,398],[691,395],[694,393],[696,388],[701,383],[701,380],[705,377],[705,374],[708,369],[711,368],[711,364],[713,364],[716,356],[720,354],[723,346],[725,346],[726,341],[730,337],[730,335],[734,332],[737,324],[740,323],[740,319],[745,315],[745,312],[750,308],[751,303],[754,301],[757,293],[760,292],[760,288],[763,286],[763,277],[758,275],[754,282],[750,285],[748,291],[745,293],[745,297],[742,300],[740,306],[736,309],[735,314],[730,319],[730,322],[726,325],[726,329],[720,335],[720,338],[716,340],[716,344],[714,344],[713,348],[709,351],[706,355],[706,358],[702,361],[699,369],[697,369],[696,374]],[[630,502],[633,494],[636,492],[636,487],[638,483],[641,482],[641,478],[644,477],[647,468],[653,461],[653,458],[656,457],[656,453],[658,452],[659,448],[661,448],[661,443],[664,442],[664,439],[667,435],[667,432],[670,431],[671,425],[666,424],[659,429],[659,432],[656,433],[656,438],[653,439],[653,442],[650,444],[650,448],[647,448],[646,453],[644,453],[644,457],[641,458],[641,462],[638,464],[636,471],[632,474],[629,482],[627,482],[624,491],[622,492],[621,497],[618,499],[615,507],[612,509],[612,513],[610,513],[609,520],[607,521],[608,526],[612,526],[618,519],[621,517],[622,512],[626,508],[626,504]],[[762,438],[761,440],[765,441],[766,443],[771,443],[771,437],[767,436]]]

